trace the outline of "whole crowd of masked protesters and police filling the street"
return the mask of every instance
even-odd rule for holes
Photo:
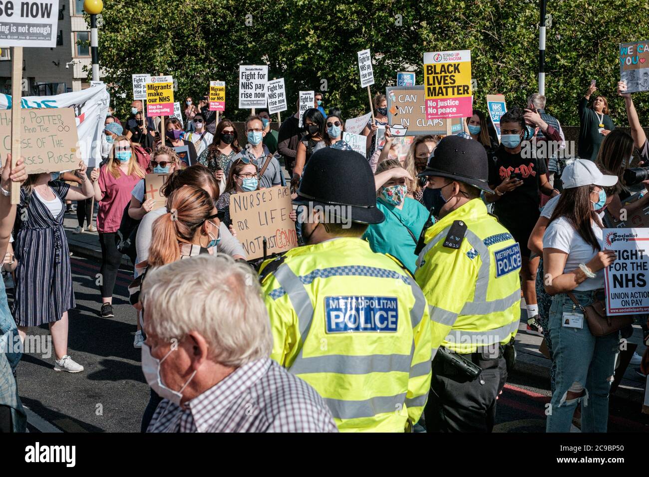
[[[67,349],[67,210],[74,234],[98,234],[104,319],[133,265],[142,432],[491,432],[520,321],[552,360],[546,431],[606,432],[618,342],[633,323],[646,337],[647,317],[591,328],[617,258],[604,214],[646,207],[625,171],[649,164],[649,143],[626,83],[631,134],[597,91],[575,98],[571,158],[532,91],[497,127],[472,104],[458,130],[415,136],[392,121],[389,92],[360,127],[321,92],[300,93],[277,129],[270,108],[240,128],[208,97],[185,97],[180,119],[140,99],[129,117],[110,108],[98,167],[5,161],[0,249],[15,287],[8,300],[0,283],[0,334],[47,324],[53,369],[86,371]],[[278,233],[254,241],[242,214],[273,201]],[[25,430],[20,359],[0,354],[1,430]],[[631,365],[646,376],[649,358]]]

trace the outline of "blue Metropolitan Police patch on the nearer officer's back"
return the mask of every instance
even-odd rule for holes
[[[398,299],[364,295],[325,297],[324,319],[327,333],[396,333]]]

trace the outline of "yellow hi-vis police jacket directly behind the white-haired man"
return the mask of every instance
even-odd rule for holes
[[[341,431],[403,432],[431,376],[430,316],[408,271],[358,238],[297,247],[260,268],[271,358],[312,385]]]

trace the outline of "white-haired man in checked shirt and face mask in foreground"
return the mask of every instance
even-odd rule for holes
[[[162,402],[147,432],[337,432],[306,382],[269,356],[251,268],[200,255],[147,273],[142,370]]]

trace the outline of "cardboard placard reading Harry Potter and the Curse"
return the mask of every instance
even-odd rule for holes
[[[79,168],[81,150],[73,108],[21,110],[20,155],[28,174]],[[11,152],[11,110],[0,110],[0,155]]]

